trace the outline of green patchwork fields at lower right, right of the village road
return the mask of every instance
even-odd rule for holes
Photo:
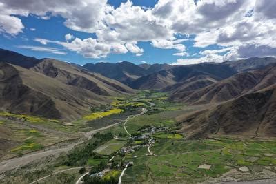
[[[243,166],[248,167],[247,176],[265,176],[264,172],[275,174],[275,147],[276,141],[159,139],[159,143],[150,148],[157,156],[137,154],[139,157],[134,158],[136,153],[127,156],[135,164],[126,170],[123,181],[179,180],[193,183],[219,178],[230,170],[239,173],[234,176],[241,177],[240,168]]]

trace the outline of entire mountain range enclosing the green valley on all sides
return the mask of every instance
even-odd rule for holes
[[[70,121],[91,106],[137,90],[206,108],[178,116],[187,138],[211,134],[276,135],[276,59],[197,65],[88,63],[36,59],[0,50],[0,110]]]

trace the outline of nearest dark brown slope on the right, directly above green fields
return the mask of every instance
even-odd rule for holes
[[[179,119],[179,131],[190,139],[210,134],[276,136],[276,85]]]

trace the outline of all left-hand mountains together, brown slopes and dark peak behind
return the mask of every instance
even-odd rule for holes
[[[0,110],[72,120],[88,113],[91,106],[110,103],[105,96],[135,92],[118,81],[55,59],[1,50],[0,61]]]

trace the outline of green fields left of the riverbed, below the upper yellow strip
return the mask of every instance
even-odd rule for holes
[[[11,143],[10,147],[2,150],[1,159],[34,152],[61,141],[75,139],[74,134],[68,136],[65,133],[63,134],[63,132],[48,131],[47,127],[28,121],[19,123],[17,121],[6,120],[0,126],[6,132],[0,135],[0,139],[8,140]]]

